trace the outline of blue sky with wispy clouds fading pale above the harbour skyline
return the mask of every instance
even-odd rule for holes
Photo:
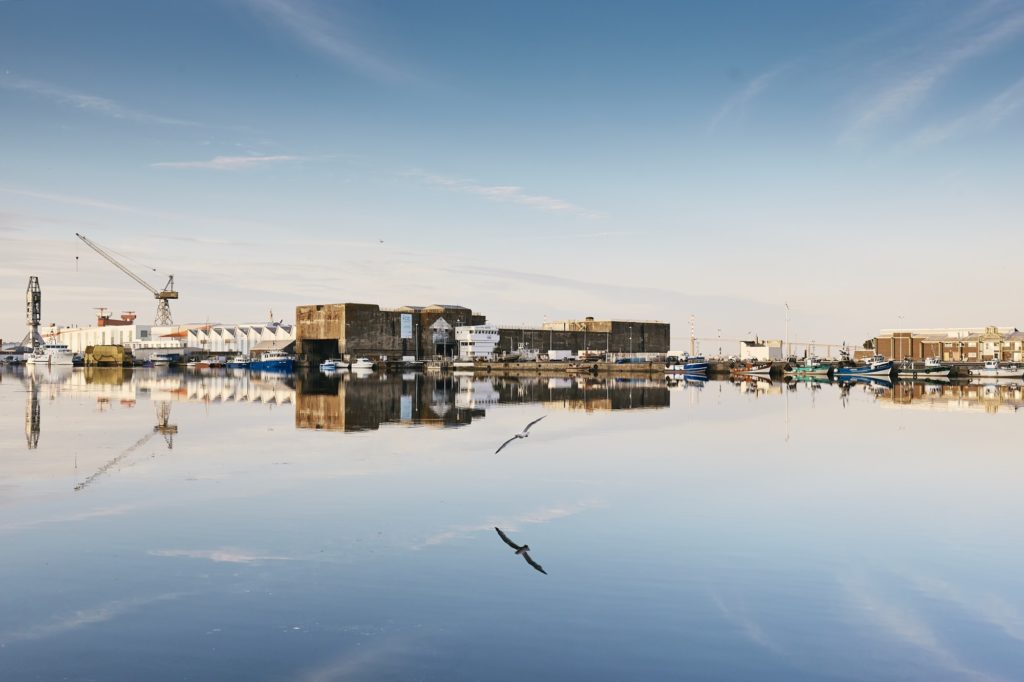
[[[1020,327],[1024,3],[0,0],[0,337],[455,303]]]

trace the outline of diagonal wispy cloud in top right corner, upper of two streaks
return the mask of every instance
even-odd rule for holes
[[[862,140],[878,126],[906,116],[958,67],[1010,42],[1022,33],[1024,13],[1017,13],[1009,17],[999,16],[980,33],[959,37],[953,44],[935,46],[935,56],[869,97],[867,105],[857,113],[853,123],[840,136],[840,141]]]

